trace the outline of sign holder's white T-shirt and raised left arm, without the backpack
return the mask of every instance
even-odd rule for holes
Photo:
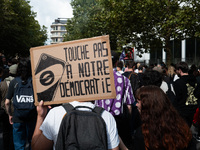
[[[85,106],[94,108],[95,105],[92,102],[70,102],[73,107]],[[48,107],[44,106],[44,102],[40,101],[37,106],[37,123],[32,138],[32,150],[49,150],[55,149],[57,142],[57,136],[60,128],[61,121],[66,111],[63,106],[54,107],[47,114]],[[89,111],[87,108],[84,111]],[[113,116],[103,111],[101,117],[105,121],[107,129],[107,144],[108,149],[119,149],[119,136],[116,128],[116,122]]]

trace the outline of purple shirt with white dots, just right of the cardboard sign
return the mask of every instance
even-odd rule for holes
[[[119,72],[113,71],[115,89],[116,89],[116,98],[115,99],[104,99],[96,100],[95,104],[97,106],[103,107],[105,110],[109,111],[112,115],[117,116],[122,112],[122,100],[123,100],[123,89],[124,90],[124,103],[130,105],[134,103],[135,98],[133,96],[133,91],[131,84],[128,78],[121,75]],[[125,81],[125,85],[124,85]]]

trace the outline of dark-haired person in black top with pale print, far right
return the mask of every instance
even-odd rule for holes
[[[180,78],[174,82],[176,94],[174,106],[191,127],[199,103],[200,88],[196,78],[188,74],[189,69],[186,62],[177,63],[176,69]]]

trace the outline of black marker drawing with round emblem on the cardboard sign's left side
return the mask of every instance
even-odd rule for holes
[[[48,54],[41,54],[35,69],[38,102],[54,101],[54,97],[65,70],[65,61]]]

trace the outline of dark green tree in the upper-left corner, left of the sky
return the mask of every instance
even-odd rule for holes
[[[35,20],[27,0],[0,0],[0,51],[6,56],[29,56],[29,49],[44,45],[47,39],[46,27],[40,27]]]

